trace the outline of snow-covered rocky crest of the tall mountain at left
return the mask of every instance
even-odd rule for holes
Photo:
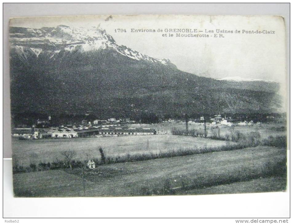
[[[92,51],[111,48],[134,60],[147,60],[164,65],[170,63],[169,60],[153,58],[116,44],[113,37],[100,27],[85,28],[66,25],[42,27],[41,29],[10,27],[10,43],[12,48],[20,46],[30,48],[37,57],[42,52],[56,54],[61,50]],[[22,52],[25,51],[22,49]]]

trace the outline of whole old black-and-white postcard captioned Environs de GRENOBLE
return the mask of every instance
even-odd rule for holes
[[[10,20],[16,197],[286,191],[279,16]]]

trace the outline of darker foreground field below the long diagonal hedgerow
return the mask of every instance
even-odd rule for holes
[[[173,189],[174,194],[281,191],[286,187],[286,178],[270,176],[268,170],[284,161],[286,153],[286,149],[257,146],[101,165],[94,171],[85,173],[84,182],[79,168],[18,173],[13,175],[14,192],[17,196],[39,197],[130,196],[145,195],[148,192],[160,194],[166,181],[168,189]],[[233,180],[235,177],[243,177],[246,181],[225,183],[225,180]],[[192,188],[201,180],[208,187]],[[191,188],[182,191],[183,185]]]

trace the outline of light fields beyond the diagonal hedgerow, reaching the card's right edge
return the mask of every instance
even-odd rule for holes
[[[159,153],[187,148],[210,148],[223,146],[225,141],[212,140],[201,137],[176,136],[169,134],[173,127],[184,129],[184,124],[163,123],[154,125],[131,125],[131,127],[154,128],[158,135],[155,136],[127,136],[127,137],[92,137],[75,139],[40,139],[19,140],[12,139],[13,159],[18,165],[28,166],[30,163],[48,163],[62,159],[61,152],[74,150],[77,152],[75,160],[100,158],[98,148],[102,147],[105,156],[125,156],[137,153]],[[220,136],[231,133],[232,127],[219,126]],[[286,135],[281,127],[284,124],[269,123],[253,126],[237,126],[235,131],[250,133],[259,131],[261,139],[269,136]],[[203,129],[203,126],[189,125],[189,129]],[[211,127],[207,127],[208,136],[211,136]],[[166,134],[168,133],[168,134]],[[232,142],[233,144],[233,142]]]

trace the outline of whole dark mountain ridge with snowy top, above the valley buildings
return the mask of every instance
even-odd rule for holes
[[[117,45],[97,28],[11,27],[10,44],[12,111],[178,116],[279,110],[277,83],[243,84],[180,71],[170,60]]]

